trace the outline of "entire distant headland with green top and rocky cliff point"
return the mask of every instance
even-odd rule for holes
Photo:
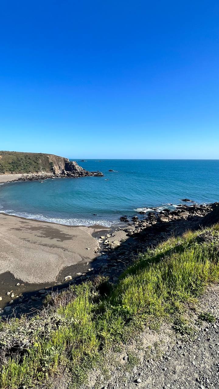
[[[88,172],[75,161],[53,154],[0,151],[0,174],[37,174],[55,177],[102,176]]]

